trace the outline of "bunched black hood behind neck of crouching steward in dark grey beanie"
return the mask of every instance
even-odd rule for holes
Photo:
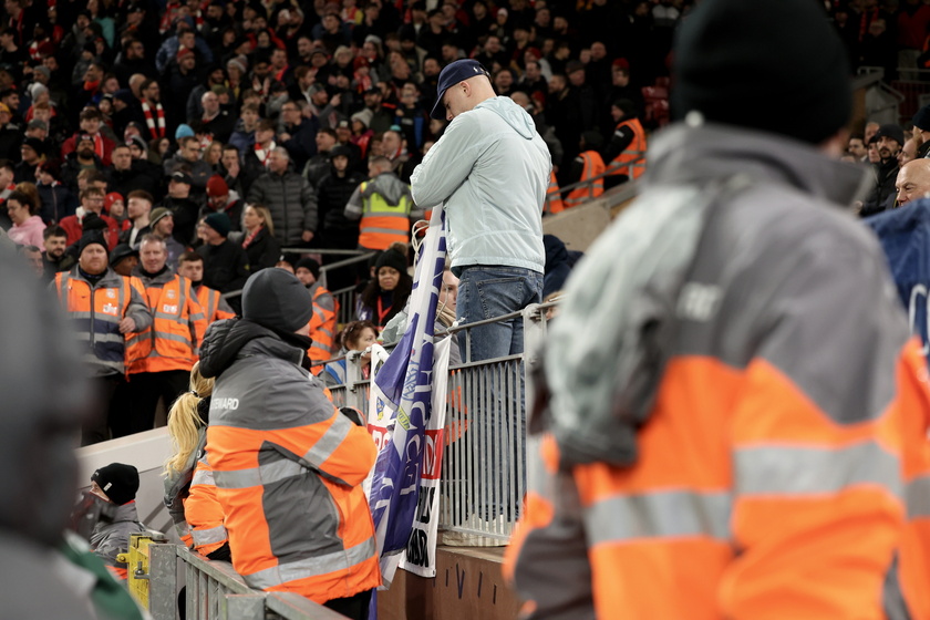
[[[251,355],[280,358],[299,365],[304,351],[258,323],[226,319],[207,329],[200,345],[200,374],[207,379],[219,376],[237,359]]]

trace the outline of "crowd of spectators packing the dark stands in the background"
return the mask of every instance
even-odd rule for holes
[[[586,153],[609,165],[644,147],[620,125],[655,128],[643,86],[668,84],[692,4],[6,0],[0,230],[50,282],[79,269],[94,232],[120,273],[138,273],[154,237],[168,269],[186,257],[195,289],[220,292],[282,249],[359,249],[359,187],[373,174],[410,182],[445,126],[428,116],[438,74],[461,58],[531,114],[565,187],[590,175]],[[828,1],[825,19],[854,65],[922,66],[920,0]],[[237,310],[229,301],[205,313]]]

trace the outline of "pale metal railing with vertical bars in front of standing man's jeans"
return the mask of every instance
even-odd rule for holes
[[[459,545],[506,544],[519,517],[526,492],[529,374],[546,334],[547,314],[556,307],[557,302],[533,304],[448,330],[456,338],[464,334],[466,361],[448,370],[440,528],[466,535]],[[473,329],[515,318],[524,326],[523,354],[469,361]],[[338,406],[366,414],[370,380],[362,379],[360,358],[361,352],[339,358],[347,360],[345,384],[330,391]]]

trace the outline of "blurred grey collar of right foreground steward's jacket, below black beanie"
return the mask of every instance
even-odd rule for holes
[[[830,159],[809,144],[713,123],[671,125],[650,144],[648,157],[650,185],[703,184],[738,169],[846,206],[861,199],[869,183],[867,170]]]

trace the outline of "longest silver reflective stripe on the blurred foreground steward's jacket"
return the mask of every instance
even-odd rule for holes
[[[742,447],[734,455],[738,495],[837,493],[874,484],[901,497],[898,457],[875,442],[826,448],[790,445]]]

